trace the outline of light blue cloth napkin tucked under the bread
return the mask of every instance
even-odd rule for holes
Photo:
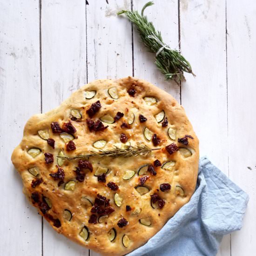
[[[148,243],[128,256],[212,256],[223,235],[242,228],[249,196],[206,157],[194,195]]]

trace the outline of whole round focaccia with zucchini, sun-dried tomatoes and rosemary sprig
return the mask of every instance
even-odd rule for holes
[[[28,200],[57,232],[121,256],[189,202],[198,143],[170,94],[133,77],[97,80],[32,116],[12,162]]]

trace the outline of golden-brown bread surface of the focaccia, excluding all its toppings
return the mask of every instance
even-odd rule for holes
[[[132,85],[136,85],[135,97],[131,97],[127,93],[127,89]],[[107,89],[116,87],[119,93],[119,99],[115,100],[109,97]],[[84,92],[96,90],[97,93],[93,99],[85,99]],[[143,100],[145,96],[154,96],[158,99],[158,102],[153,106],[148,106]],[[109,127],[100,132],[89,132],[86,125],[86,110],[95,101],[101,101],[100,111],[93,117],[98,119],[105,114],[109,114],[112,117],[116,115],[118,111],[124,113],[124,117],[115,122],[114,124],[108,124]],[[58,121],[60,125],[63,122],[67,122],[70,117],[70,109],[79,109],[82,114],[82,120],[80,122],[72,121],[72,124],[76,128],[75,135],[77,138],[74,139],[76,150],[67,152],[65,150],[65,143],[60,138],[59,134],[53,134],[50,128],[50,124],[54,121]],[[167,130],[168,127],[162,127],[161,123],[157,123],[155,115],[160,111],[165,111],[165,116],[168,118],[168,127],[175,127],[177,130],[176,140],[172,141],[168,138]],[[135,113],[135,121],[131,125],[130,129],[121,128],[121,123],[126,120],[126,116],[130,111]],[[148,120],[144,123],[140,123],[138,115],[144,115]],[[105,124],[106,125],[106,124]],[[162,150],[154,151],[148,156],[136,156],[131,158],[115,158],[110,159],[108,157],[99,159],[92,157],[90,161],[93,164],[94,170],[92,173],[87,172],[84,182],[77,182],[75,184],[74,191],[64,190],[64,185],[57,186],[58,181],[49,176],[49,174],[56,172],[57,157],[59,151],[62,149],[65,155],[79,155],[86,153],[90,150],[95,150],[92,144],[94,141],[100,139],[108,141],[105,148],[112,148],[113,144],[121,144],[120,135],[125,133],[128,135],[128,141],[132,145],[136,143],[144,143],[149,148],[155,148],[152,141],[146,141],[143,137],[143,129],[147,127],[161,139],[161,144],[158,146]],[[41,139],[38,136],[38,130],[49,130],[49,135],[55,140],[55,149],[47,144],[47,141]],[[191,135],[194,139],[189,138],[189,145],[185,146],[177,142],[177,138],[182,138],[184,135]],[[184,158],[181,153],[175,152],[169,155],[165,150],[165,146],[175,142],[178,147],[190,148],[193,154],[187,158]],[[58,108],[45,113],[32,116],[24,128],[24,136],[20,145],[14,149],[12,155],[12,162],[19,171],[23,184],[24,193],[27,198],[32,202],[31,194],[38,192],[41,195],[46,196],[52,203],[52,208],[47,211],[47,220],[52,224],[53,228],[72,239],[73,241],[86,246],[88,249],[94,249],[102,255],[115,255],[120,256],[131,252],[132,250],[140,247],[148,241],[148,239],[155,235],[162,226],[168,221],[169,218],[187,202],[194,193],[197,171],[198,171],[198,139],[193,131],[192,125],[190,124],[184,109],[180,106],[177,101],[168,93],[153,86],[147,81],[135,79],[133,77],[127,77],[120,80],[97,80],[83,86],[76,92],[74,92],[70,98],[64,101]],[[32,158],[27,154],[29,148],[40,148],[42,153],[35,158]],[[105,149],[104,148],[104,149]],[[52,153],[54,155],[54,163],[46,164],[43,153]],[[135,186],[139,185],[137,170],[143,164],[152,164],[156,159],[162,163],[168,160],[176,162],[175,169],[173,171],[163,170],[161,167],[157,167],[157,175],[150,175],[149,180],[145,183],[151,190],[145,194],[140,195],[136,190]],[[77,160],[65,161],[61,166],[65,171],[64,182],[74,180],[75,174],[74,169],[77,166]],[[31,182],[35,178],[31,175],[27,169],[33,166],[37,166],[40,171],[38,177],[42,177],[43,182],[32,188]],[[97,181],[97,177],[94,176],[94,172],[98,166],[108,167],[110,172],[107,175],[107,182],[102,183]],[[134,170],[135,176],[130,180],[123,180],[125,170]],[[107,187],[109,181],[118,184],[119,189],[112,191]],[[159,191],[160,184],[170,183],[171,190],[166,192]],[[181,186],[185,191],[185,196],[176,195],[175,186]],[[114,202],[114,194],[117,192],[122,198],[123,202],[121,207],[117,207]],[[150,195],[157,192],[162,199],[165,200],[165,206],[163,209],[153,209],[150,206]],[[110,199],[110,205],[115,209],[115,212],[109,215],[107,224],[88,223],[90,213],[90,207],[86,208],[81,202],[82,196],[87,196],[92,201],[97,194],[106,196]],[[40,199],[41,200],[41,199]],[[39,209],[38,203],[34,205]],[[132,210],[126,212],[126,205],[130,205]],[[141,213],[136,216],[133,214],[135,208],[141,208]],[[63,218],[63,210],[69,209],[72,212],[71,221],[67,221]],[[57,228],[53,225],[53,220],[49,219],[49,215],[53,216],[54,219],[59,219],[61,227]],[[119,228],[117,222],[124,217],[128,220],[129,224],[126,227]],[[139,223],[139,219],[150,218],[151,226],[144,226]],[[88,241],[84,241],[79,233],[83,226],[87,226],[90,232],[90,238]],[[110,242],[107,236],[108,231],[111,228],[115,228],[117,236],[114,242]],[[122,245],[122,236],[126,234],[131,243],[128,248]]]

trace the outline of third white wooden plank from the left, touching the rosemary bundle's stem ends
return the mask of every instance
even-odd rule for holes
[[[132,75],[132,36],[128,20],[117,17],[130,1],[89,1],[87,6],[88,81]],[[90,256],[100,254],[90,251]]]

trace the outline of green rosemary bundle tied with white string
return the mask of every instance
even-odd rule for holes
[[[193,74],[192,68],[179,50],[171,49],[163,42],[161,32],[156,31],[153,23],[148,21],[147,16],[144,16],[144,10],[152,5],[154,5],[152,1],[146,3],[141,14],[137,11],[126,10],[117,14],[125,13],[128,19],[137,26],[142,42],[150,52],[155,53],[155,64],[164,74],[165,80],[174,80],[180,84],[180,81],[185,80],[184,72]]]

